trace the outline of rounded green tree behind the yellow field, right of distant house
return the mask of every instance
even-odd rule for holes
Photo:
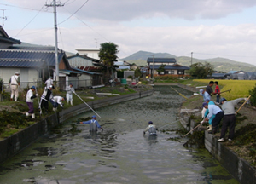
[[[190,66],[189,74],[194,78],[207,78],[207,75],[212,75],[213,69],[214,66],[208,62],[205,65],[198,62]]]

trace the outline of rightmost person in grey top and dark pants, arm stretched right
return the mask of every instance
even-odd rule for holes
[[[221,128],[221,134],[218,141],[224,141],[226,131],[228,127],[230,127],[230,134],[228,136],[228,140],[232,141],[235,135],[235,126],[236,126],[236,112],[235,106],[239,101],[245,100],[247,98],[239,98],[233,101],[227,101],[225,98],[220,99],[220,104],[222,104],[221,108],[224,111],[224,118]]]

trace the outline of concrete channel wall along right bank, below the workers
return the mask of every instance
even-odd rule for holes
[[[198,92],[198,89],[193,89],[193,87],[187,85],[179,83],[177,86],[192,92]],[[189,120],[189,117],[186,117],[184,113],[181,112],[180,117],[182,118],[181,124],[185,129],[189,131],[195,127],[195,122]],[[253,166],[248,164],[246,160],[239,158],[229,147],[225,147],[223,143],[218,142],[218,137],[208,134],[207,131],[205,131],[205,147],[237,181],[242,184],[256,183],[256,170]]]

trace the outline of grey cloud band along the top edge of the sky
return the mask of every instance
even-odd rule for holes
[[[45,0],[6,0],[22,7],[41,9]],[[70,15],[85,1],[65,1],[58,12]],[[51,1],[47,1],[51,3]],[[63,3],[63,2],[62,2]],[[76,14],[90,21],[131,21],[139,18],[167,16],[184,20],[218,19],[256,5],[254,0],[89,0]]]

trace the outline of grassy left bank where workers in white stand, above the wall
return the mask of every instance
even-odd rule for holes
[[[98,93],[111,93],[119,95],[128,95],[132,93],[137,93],[140,91],[152,89],[150,85],[139,85],[139,86],[116,86],[116,87],[102,87],[98,89],[83,89],[76,90],[76,94],[79,95],[81,99],[85,102],[96,101],[100,99],[105,99],[113,97],[113,95],[99,95]],[[42,95],[43,89],[38,89],[38,94]],[[36,114],[36,119],[31,117],[26,117],[26,112],[28,111],[28,106],[26,105],[26,90],[23,90],[19,94],[19,102],[9,101],[10,94],[4,92],[3,101],[0,102],[0,140],[19,132],[21,129],[25,129],[27,126],[35,124],[38,120],[53,114],[52,105],[49,102],[49,113],[40,116],[38,109],[38,101],[40,98],[34,99],[34,111]],[[60,91],[58,89],[53,90],[53,95],[66,96],[66,91]],[[77,95],[73,94],[73,105],[79,105],[83,103]],[[90,97],[90,98],[89,98]],[[93,99],[91,99],[93,98]],[[64,101],[63,109],[71,107]],[[61,107],[58,107],[58,111],[61,111]]]

